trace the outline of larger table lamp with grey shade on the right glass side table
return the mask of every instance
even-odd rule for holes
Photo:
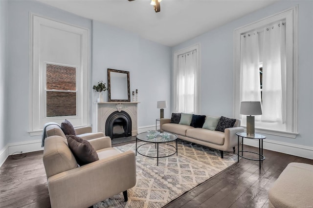
[[[240,103],[240,114],[246,116],[246,134],[254,137],[254,115],[262,115],[260,101],[243,101]]]

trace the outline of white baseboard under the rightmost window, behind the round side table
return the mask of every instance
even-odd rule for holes
[[[244,145],[259,147],[259,140],[244,139]],[[313,160],[313,147],[265,139],[263,148]]]

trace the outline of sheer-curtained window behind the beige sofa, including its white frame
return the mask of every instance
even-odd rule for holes
[[[174,53],[174,111],[200,111],[200,45]]]

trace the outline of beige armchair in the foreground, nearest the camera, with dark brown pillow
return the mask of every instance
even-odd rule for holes
[[[47,135],[43,161],[52,208],[87,208],[121,192],[127,201],[127,189],[136,184],[133,151],[120,153],[110,137],[90,139],[99,160],[78,166],[61,128],[49,126]]]

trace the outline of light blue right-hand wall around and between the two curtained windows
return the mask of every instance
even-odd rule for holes
[[[201,114],[233,116],[234,30],[299,5],[298,131],[296,139],[268,139],[313,146],[313,1],[279,1],[172,48],[172,52],[201,44]]]

